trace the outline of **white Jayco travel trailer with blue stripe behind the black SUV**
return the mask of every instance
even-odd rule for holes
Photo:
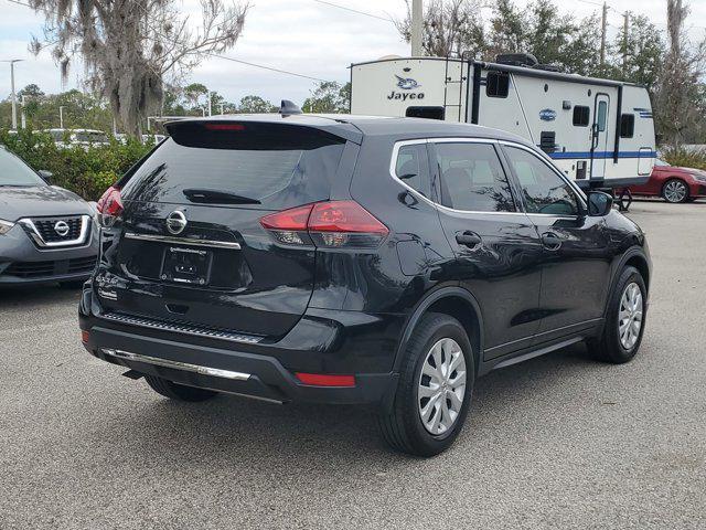
[[[650,178],[656,150],[646,88],[554,72],[533,64],[531,55],[507,57],[514,64],[450,57],[353,64],[351,113],[467,121],[515,132],[586,188]]]

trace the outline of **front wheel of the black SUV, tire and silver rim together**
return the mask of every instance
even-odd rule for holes
[[[637,300],[634,306],[632,300]],[[621,364],[635,357],[646,322],[646,300],[644,278],[637,268],[625,267],[610,295],[601,336],[588,341],[595,359]]]

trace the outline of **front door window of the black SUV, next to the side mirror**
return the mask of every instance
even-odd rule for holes
[[[527,213],[578,215],[576,193],[544,161],[517,147],[506,147],[505,151],[520,181]]]

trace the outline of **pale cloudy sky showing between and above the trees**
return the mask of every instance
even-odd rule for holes
[[[22,0],[21,0],[22,1]],[[199,19],[197,0],[175,0],[190,20]],[[237,0],[236,0],[237,1]],[[242,0],[244,1],[244,0]],[[525,6],[530,0],[515,0]],[[328,2],[328,3],[327,3]],[[577,17],[600,9],[599,0],[555,0],[561,11]],[[364,11],[360,14],[340,7]],[[689,35],[706,35],[706,1],[691,0]],[[351,63],[375,60],[384,55],[408,55],[389,18],[406,12],[404,0],[252,0],[244,32],[234,49],[225,55],[238,60],[287,70],[308,76],[338,81],[349,80]],[[635,9],[635,0],[609,1],[609,36],[622,24],[621,13]],[[666,0],[641,0],[640,13],[663,29],[666,21]],[[483,11],[489,15],[489,11]],[[387,19],[387,20],[381,20]],[[39,56],[28,51],[32,35],[42,35],[43,17],[30,8],[10,0],[0,0],[0,61],[23,59],[15,64],[15,88],[38,84],[45,93],[81,87],[83,67],[75,65],[69,80],[62,85],[57,66],[49,50]],[[10,68],[0,62],[0,98],[10,94]],[[302,77],[269,72],[217,57],[208,57],[195,68],[190,81],[205,84],[227,100],[237,102],[249,94],[271,102],[292,99],[302,102],[315,82]]]

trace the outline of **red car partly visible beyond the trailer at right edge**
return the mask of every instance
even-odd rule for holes
[[[686,202],[706,197],[706,171],[677,168],[656,159],[650,180],[631,186],[633,195],[660,195],[667,202]]]

